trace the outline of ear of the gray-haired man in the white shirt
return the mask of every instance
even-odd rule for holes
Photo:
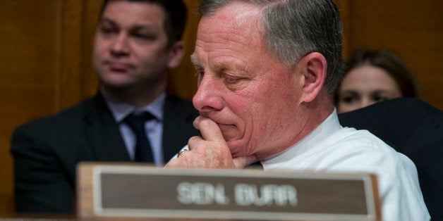
[[[301,58],[299,65],[303,80],[302,101],[313,101],[322,90],[326,79],[326,58],[318,52],[308,53],[308,55]]]

